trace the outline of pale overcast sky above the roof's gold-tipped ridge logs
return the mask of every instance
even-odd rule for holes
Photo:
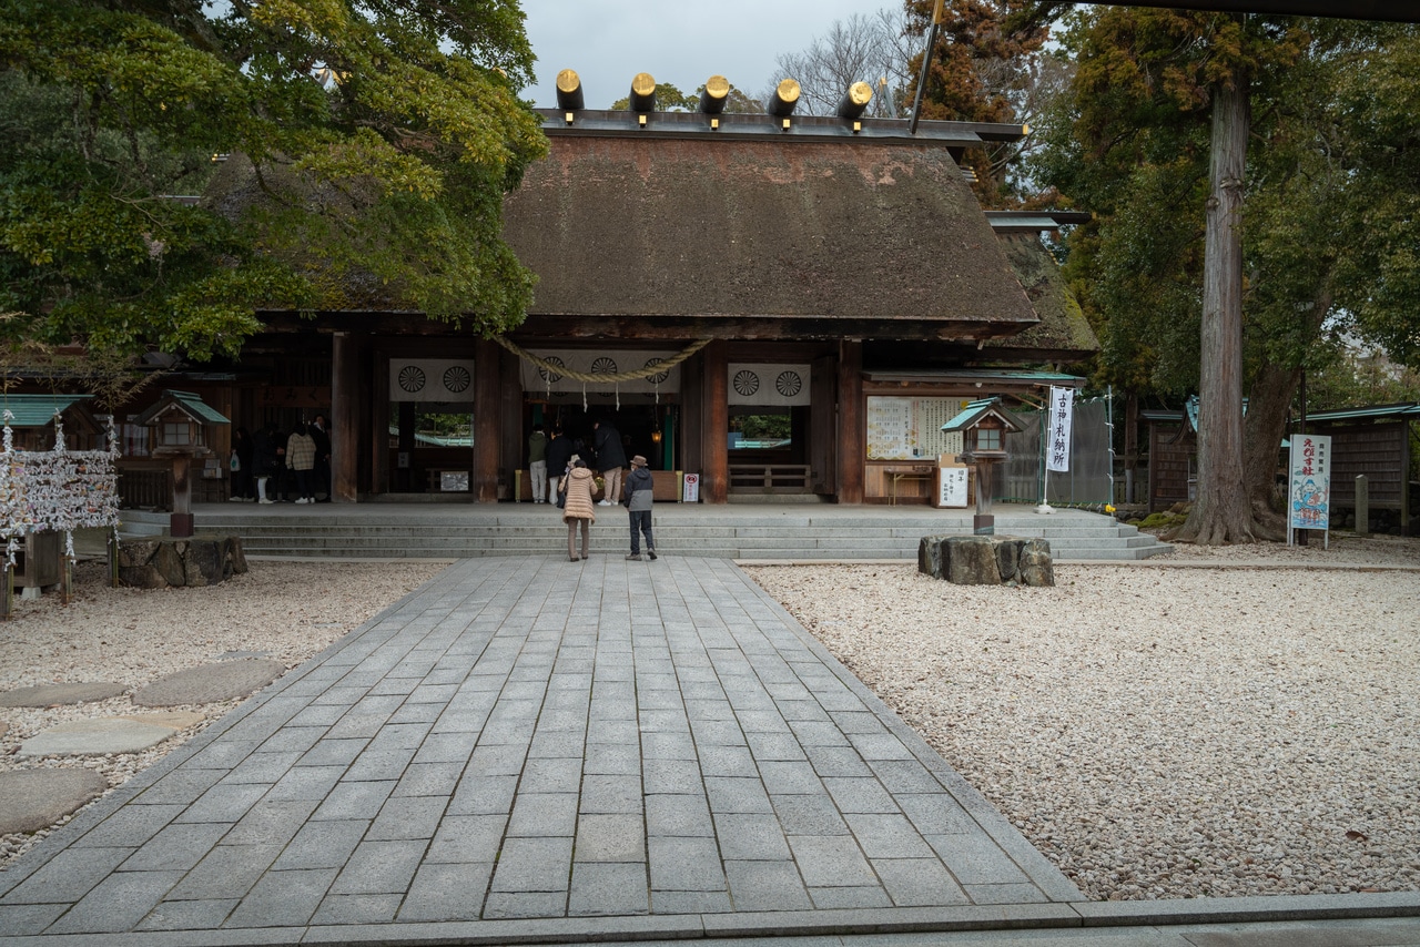
[[[895,3],[897,0],[888,0]],[[608,108],[630,92],[638,72],[693,92],[711,75],[755,97],[781,53],[799,53],[834,20],[870,16],[883,4],[849,0],[523,0],[540,108],[557,106],[557,74],[577,70],[586,108]]]

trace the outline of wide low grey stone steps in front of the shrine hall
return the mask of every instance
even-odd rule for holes
[[[552,507],[531,504],[203,504],[197,535],[241,537],[254,558],[470,558],[552,555],[567,528]],[[151,530],[166,514],[125,511],[125,530]],[[968,511],[927,507],[680,505],[655,510],[662,555],[750,561],[914,559],[924,535],[967,535]],[[1173,547],[1112,517],[1079,510],[1041,515],[1030,507],[995,511],[998,535],[1044,538],[1056,561],[1143,559]],[[599,507],[594,555],[625,555],[626,514]]]

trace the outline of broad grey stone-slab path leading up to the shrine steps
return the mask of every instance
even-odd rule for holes
[[[978,876],[1078,917],[1079,890],[731,562],[490,557],[0,873],[0,941],[917,929],[1000,916]]]

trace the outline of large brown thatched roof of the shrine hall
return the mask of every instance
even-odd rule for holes
[[[978,339],[1038,321],[940,145],[550,138],[504,202],[504,234],[540,278],[528,329],[772,318],[802,335]]]

